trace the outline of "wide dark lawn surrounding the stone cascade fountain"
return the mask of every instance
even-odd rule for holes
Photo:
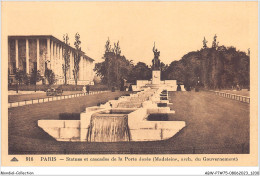
[[[66,99],[9,109],[10,154],[84,153],[248,153],[249,104],[209,92],[171,92],[170,120],[186,122],[174,137],[154,142],[58,142],[37,127],[39,119],[58,119],[59,113],[79,113],[85,107],[114,99],[124,92]]]

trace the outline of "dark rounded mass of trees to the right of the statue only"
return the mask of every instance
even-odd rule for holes
[[[207,89],[243,88],[250,85],[250,52],[235,47],[218,46],[214,36],[212,46],[204,38],[200,51],[189,52],[181,60],[173,61],[165,71],[166,79],[176,79],[185,86],[194,87],[198,82]]]

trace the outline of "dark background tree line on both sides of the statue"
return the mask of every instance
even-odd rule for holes
[[[245,53],[233,46],[219,46],[216,35],[211,47],[207,46],[205,37],[202,42],[201,50],[189,52],[169,65],[161,62],[161,79],[177,80],[185,87],[199,84],[207,89],[223,89],[238,84],[242,88],[249,88],[250,50]],[[102,82],[110,87],[119,87],[122,79],[135,84],[136,80],[150,80],[152,77],[151,66],[143,62],[134,65],[121,55],[119,42],[111,47],[108,39],[103,59],[103,62],[96,64],[94,70]]]

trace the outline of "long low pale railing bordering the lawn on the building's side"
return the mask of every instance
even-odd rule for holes
[[[64,99],[81,97],[81,96],[86,96],[86,95],[94,95],[94,94],[99,94],[99,93],[103,93],[103,92],[108,92],[108,91],[91,91],[89,93],[76,93],[76,94],[70,94],[70,95],[60,95],[60,96],[52,96],[52,97],[46,97],[46,98],[23,100],[23,101],[19,101],[19,102],[8,103],[8,108],[14,108],[14,107],[30,105],[30,104],[46,103],[46,102],[50,102],[50,101],[64,100]]]

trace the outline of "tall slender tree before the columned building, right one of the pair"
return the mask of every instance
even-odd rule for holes
[[[73,76],[74,76],[76,85],[78,84],[78,78],[79,78],[79,63],[80,63],[80,57],[81,57],[80,44],[81,44],[80,35],[79,35],[79,33],[76,33],[75,42],[74,42],[74,46],[76,48],[76,54],[74,55],[74,69],[73,69]]]

